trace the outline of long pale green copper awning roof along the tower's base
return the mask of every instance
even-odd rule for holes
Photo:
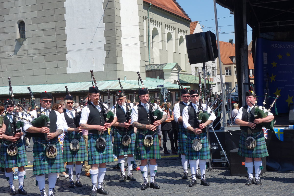
[[[165,88],[169,89],[178,89],[179,86],[177,84],[172,83],[165,83],[164,80],[159,79],[157,82],[156,78],[146,78],[143,81],[144,86],[150,90],[157,89],[158,85],[164,85]],[[136,80],[121,80],[121,85],[123,86],[124,90],[136,90],[138,89],[138,81]],[[65,93],[65,86],[68,87],[69,92],[87,92],[89,87],[92,86],[92,82],[74,82],[74,83],[58,83],[58,84],[38,84],[38,85],[30,85],[31,91],[33,93],[41,93],[44,91],[50,93]],[[121,87],[117,80],[110,80],[110,81],[97,81],[97,86],[101,91],[109,90],[120,90]],[[183,86],[184,88],[190,88],[190,86]],[[142,85],[140,83],[140,88]],[[12,86],[13,94],[28,94],[28,86],[21,85],[21,86]],[[1,95],[9,95],[9,86],[1,86],[0,87],[0,94]]]

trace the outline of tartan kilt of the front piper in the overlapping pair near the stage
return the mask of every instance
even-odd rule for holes
[[[192,142],[196,138],[199,138],[202,144],[202,148],[199,151],[195,151],[192,148]],[[201,133],[200,135],[187,133],[186,159],[189,159],[189,160],[210,159],[210,151],[209,151],[209,145],[208,145],[206,132]]]

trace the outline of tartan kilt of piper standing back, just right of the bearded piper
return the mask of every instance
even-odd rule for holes
[[[131,137],[131,143],[128,146],[124,146],[121,143],[121,140],[125,132],[120,132],[116,128],[114,129],[114,138],[113,138],[113,154],[116,156],[120,155],[133,155],[135,152],[135,140],[136,135],[134,129],[129,130],[127,135]]]

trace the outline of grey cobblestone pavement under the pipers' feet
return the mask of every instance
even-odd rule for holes
[[[28,150],[32,150],[28,148]],[[160,185],[160,189],[148,188],[140,190],[143,179],[140,171],[134,171],[136,182],[118,182],[120,172],[112,169],[117,162],[107,163],[106,176],[104,178],[105,190],[109,195],[294,195],[293,171],[289,172],[272,172],[267,171],[261,176],[263,185],[255,184],[246,186],[246,177],[230,176],[230,171],[227,168],[214,168],[213,171],[206,171],[206,176],[210,186],[200,185],[200,180],[197,179],[197,185],[188,187],[190,179],[182,180],[182,167],[178,155],[166,156],[163,153],[162,159],[158,160],[158,172],[156,173],[156,182]],[[39,188],[36,186],[36,178],[32,176],[32,160],[33,153],[27,152],[29,166],[26,167],[25,190],[30,196],[39,196]],[[139,165],[139,162],[136,162]],[[191,173],[189,171],[189,173]],[[56,182],[56,196],[81,196],[89,195],[91,192],[91,179],[81,174],[81,182],[83,187],[68,187],[68,178],[60,177]],[[48,193],[48,181],[46,175],[46,192]],[[150,175],[148,175],[150,181]],[[75,177],[74,177],[75,179]],[[18,186],[18,181],[14,180],[14,185]],[[18,190],[18,189],[16,189]],[[0,172],[0,196],[9,195],[8,182],[5,174]],[[99,195],[99,194],[97,194]]]

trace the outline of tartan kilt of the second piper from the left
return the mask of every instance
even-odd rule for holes
[[[51,144],[54,144],[57,149],[57,156],[53,159],[50,159],[46,156],[46,147],[48,142],[42,138],[34,138],[34,167],[33,167],[33,175],[41,175],[48,173],[58,173],[64,172],[64,164],[63,164],[63,156],[61,152],[61,148],[59,145],[58,138],[53,138],[50,141]],[[44,144],[39,144],[38,142]]]

